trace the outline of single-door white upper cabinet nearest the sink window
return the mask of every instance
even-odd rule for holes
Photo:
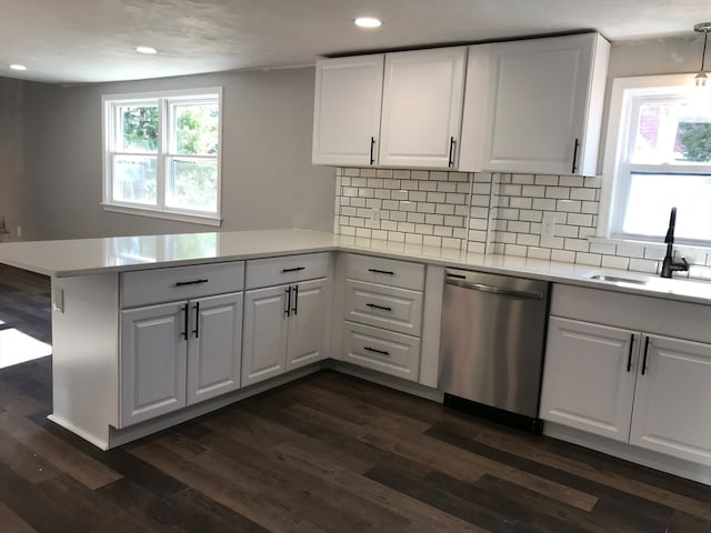
[[[460,169],[594,175],[609,53],[598,33],[471,47]]]

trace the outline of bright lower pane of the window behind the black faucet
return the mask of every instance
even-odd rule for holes
[[[711,174],[632,173],[623,232],[663,239],[671,208],[675,239],[711,240]]]

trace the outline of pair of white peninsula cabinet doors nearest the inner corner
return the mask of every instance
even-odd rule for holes
[[[242,385],[326,358],[328,280],[247,291]]]

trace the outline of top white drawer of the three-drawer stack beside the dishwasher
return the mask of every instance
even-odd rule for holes
[[[348,278],[421,291],[424,286],[424,264],[351,253],[348,255]]]

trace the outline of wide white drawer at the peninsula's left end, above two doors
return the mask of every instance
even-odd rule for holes
[[[126,272],[121,274],[121,306],[237,292],[243,286],[243,261]]]

